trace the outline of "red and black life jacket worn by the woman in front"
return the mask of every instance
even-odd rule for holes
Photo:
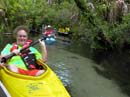
[[[25,43],[25,45],[23,45],[22,49],[26,48],[27,46],[29,46],[31,44],[31,42],[32,42],[31,40],[28,40]],[[12,52],[15,49],[18,49],[17,43],[13,43],[13,46],[10,49],[10,51]],[[39,67],[39,65],[36,63],[35,54],[33,54],[29,48],[26,49],[26,50],[24,50],[24,52],[21,52],[20,56],[21,56],[23,62],[25,63],[26,67],[29,70],[32,70],[32,69],[41,69],[41,67]]]

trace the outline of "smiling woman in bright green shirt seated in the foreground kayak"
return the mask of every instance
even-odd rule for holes
[[[5,46],[5,48],[1,51],[1,58],[11,53],[15,53],[16,56],[13,56],[11,59],[7,60],[6,63],[0,63],[0,66],[6,65],[9,70],[16,73],[38,76],[41,75],[44,70],[38,68],[36,60],[42,59],[46,62],[47,49],[45,42],[39,39],[42,54],[40,54],[40,52],[34,47],[29,47],[23,53],[20,53],[22,48],[29,46],[32,42],[31,40],[28,40],[28,33],[29,30],[26,26],[16,27],[14,30],[16,42]]]

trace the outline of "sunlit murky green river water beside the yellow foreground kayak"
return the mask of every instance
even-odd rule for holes
[[[6,42],[1,44],[2,47]],[[128,97],[114,80],[102,76],[95,69],[104,68],[83,56],[83,52],[84,55],[89,52],[87,49],[58,40],[53,45],[47,45],[47,50],[47,64],[59,76],[72,97]],[[75,50],[80,51],[74,53]]]

